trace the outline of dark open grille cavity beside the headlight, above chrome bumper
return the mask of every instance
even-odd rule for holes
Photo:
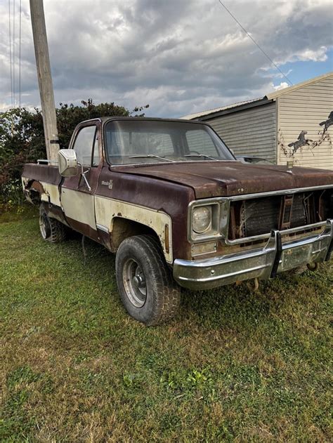
[[[244,199],[230,204],[229,238],[239,239],[333,217],[332,190]]]

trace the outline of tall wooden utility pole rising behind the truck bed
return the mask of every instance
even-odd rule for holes
[[[36,55],[39,93],[41,95],[41,112],[43,114],[46,154],[48,160],[56,160],[59,150],[57,118],[50,58],[44,17],[43,0],[30,0],[32,34],[34,36],[34,53]]]

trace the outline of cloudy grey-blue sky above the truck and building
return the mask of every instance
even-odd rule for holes
[[[20,0],[10,0],[11,11],[13,2],[18,91]],[[333,71],[332,0],[223,2],[293,84]],[[92,98],[181,117],[287,86],[218,0],[44,0],[44,10],[55,105]],[[0,111],[11,107],[8,17],[8,0],[0,0]],[[34,107],[28,0],[21,20],[21,104]]]

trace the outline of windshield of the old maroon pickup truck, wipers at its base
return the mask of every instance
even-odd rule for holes
[[[209,126],[188,121],[113,120],[105,141],[110,164],[235,160]]]

